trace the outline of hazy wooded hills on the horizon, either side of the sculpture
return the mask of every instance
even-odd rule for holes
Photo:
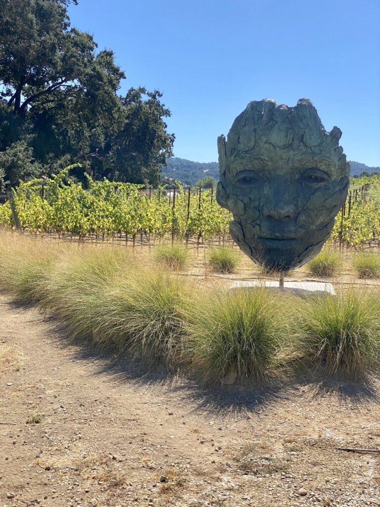
[[[192,160],[173,157],[167,160],[167,167],[162,168],[162,177],[178,179],[185,185],[195,185],[205,176],[219,179],[218,162],[193,162]],[[380,167],[368,167],[360,162],[351,162],[351,175],[359,176],[362,172],[380,172]]]

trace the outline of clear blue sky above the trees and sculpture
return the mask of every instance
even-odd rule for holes
[[[73,26],[163,92],[177,157],[217,160],[251,100],[308,97],[349,160],[380,166],[379,0],[79,0]]]

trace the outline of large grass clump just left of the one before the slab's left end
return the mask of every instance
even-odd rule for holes
[[[161,360],[169,368],[176,367],[184,359],[189,293],[184,280],[157,270],[139,271],[133,279],[116,281],[102,308],[109,324],[103,337],[147,363]]]

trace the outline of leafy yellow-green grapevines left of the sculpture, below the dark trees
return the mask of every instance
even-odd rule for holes
[[[202,194],[201,202],[198,194],[191,194],[187,217],[188,195],[183,189],[177,192],[173,208],[173,201],[162,191],[160,195],[153,193],[150,199],[140,194],[142,185],[113,183],[106,178],[95,182],[87,176],[86,190],[69,178],[75,167],[68,166],[50,178],[22,183],[16,189],[14,202],[23,228],[81,236],[96,233],[110,238],[118,231],[132,237],[139,233],[158,237],[173,234],[178,238],[227,234],[230,214],[215,199],[211,202],[210,191]],[[9,225],[8,211],[0,209],[0,225]]]

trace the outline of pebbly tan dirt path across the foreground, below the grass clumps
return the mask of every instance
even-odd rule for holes
[[[336,450],[380,448],[373,385],[204,390],[0,296],[0,507],[380,505],[379,454]]]

